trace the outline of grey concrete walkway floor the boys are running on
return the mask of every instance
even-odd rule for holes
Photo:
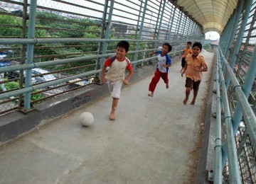
[[[181,63],[169,69],[169,89],[160,80],[147,96],[151,77],[122,89],[116,120],[112,99],[102,97],[48,122],[0,148],[0,183],[193,183],[213,53],[195,105],[183,105]],[[95,117],[82,127],[79,116]],[[192,177],[192,178],[191,178]]]

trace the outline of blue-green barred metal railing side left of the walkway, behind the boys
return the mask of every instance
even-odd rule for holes
[[[1,4],[0,52],[9,52],[10,57],[0,62],[11,61],[11,67],[0,68],[0,115],[33,110],[35,103],[86,87],[88,83],[80,85],[84,81],[99,83],[102,64],[114,54],[119,40],[129,41],[127,57],[137,69],[152,64],[155,57],[149,52],[163,42],[173,45],[174,56],[187,41],[204,36],[200,25],[163,0]],[[38,68],[47,73],[34,74]],[[46,75],[53,79],[35,80]]]

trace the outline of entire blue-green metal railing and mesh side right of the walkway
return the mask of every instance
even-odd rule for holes
[[[256,183],[255,11],[240,1],[220,37],[214,183]]]

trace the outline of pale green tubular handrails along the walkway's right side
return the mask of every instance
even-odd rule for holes
[[[223,66],[223,67],[222,67]],[[215,172],[214,172],[214,182],[221,183],[222,181],[222,172],[224,163],[221,163],[222,156],[225,159],[226,153],[228,156],[228,172],[229,172],[229,181],[230,183],[241,183],[240,171],[238,167],[238,155],[235,146],[235,132],[233,130],[233,117],[230,115],[230,109],[228,104],[227,89],[225,86],[225,79],[223,72],[227,71],[228,76],[230,76],[231,84],[234,86],[233,91],[235,91],[235,96],[238,100],[238,103],[242,110],[242,115],[247,125],[247,132],[250,134],[252,139],[253,146],[256,146],[256,117],[253,112],[250,103],[248,102],[245,93],[242,91],[242,86],[239,84],[238,79],[236,78],[233,69],[230,67],[228,60],[225,59],[223,52],[220,50],[220,47],[217,50],[217,63],[216,63],[216,92],[217,92],[217,112],[216,112],[216,134],[215,134]],[[220,80],[219,80],[220,76]],[[221,113],[220,113],[220,86],[222,87],[222,96],[223,100],[223,109],[224,109],[224,118],[225,122],[225,142],[223,146],[220,146],[221,142]],[[223,155],[224,154],[224,155]]]

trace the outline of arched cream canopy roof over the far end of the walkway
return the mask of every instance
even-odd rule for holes
[[[216,31],[221,35],[228,19],[233,14],[238,0],[171,0],[187,12],[198,24],[203,33]]]

